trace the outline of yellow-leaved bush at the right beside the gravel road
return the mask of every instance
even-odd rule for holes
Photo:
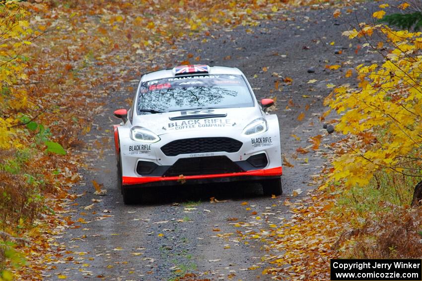
[[[374,17],[382,17],[381,12]],[[392,50],[383,64],[356,67],[358,89],[336,88],[326,100],[331,109],[342,113],[336,130],[356,140],[334,161],[326,185],[342,180],[347,186],[363,186],[377,171],[409,174],[412,171],[404,168],[405,163],[410,159],[419,167],[422,163],[422,33],[384,25],[361,27],[360,32],[343,35],[353,38],[363,31],[368,36],[377,29]]]

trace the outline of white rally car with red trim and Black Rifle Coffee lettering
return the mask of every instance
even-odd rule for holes
[[[184,65],[144,74],[132,108],[114,114],[125,204],[143,186],[259,180],[280,195],[280,127],[237,68]]]

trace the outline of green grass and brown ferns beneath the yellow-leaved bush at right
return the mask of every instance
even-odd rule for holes
[[[416,166],[407,165],[407,170]],[[417,258],[422,254],[422,207],[410,208],[420,177],[381,170],[368,185],[353,186],[337,198],[334,215],[349,212],[350,226],[337,241],[342,258]]]

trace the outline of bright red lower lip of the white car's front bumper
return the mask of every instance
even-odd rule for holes
[[[282,175],[282,168],[276,167],[271,169],[258,169],[251,171],[243,171],[236,173],[220,173],[205,175],[188,175],[188,176],[123,176],[123,185],[173,185],[175,183],[210,183],[210,182],[228,182],[240,180],[260,180],[277,178]]]

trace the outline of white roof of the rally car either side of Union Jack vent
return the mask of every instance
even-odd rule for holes
[[[240,71],[237,67],[228,67],[228,66],[209,66],[208,72],[194,72],[194,73],[186,73],[186,75],[177,75],[180,76],[192,76],[192,75],[217,75],[217,74],[237,74],[242,75],[242,71]],[[176,77],[172,68],[158,70],[146,73],[142,75],[141,82],[144,81],[151,81],[157,79],[163,79],[168,77]]]

